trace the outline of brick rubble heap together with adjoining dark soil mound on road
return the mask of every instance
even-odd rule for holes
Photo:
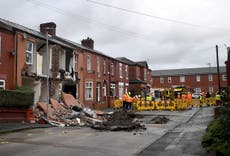
[[[93,110],[85,107],[71,94],[62,93],[61,102],[51,98],[50,103],[47,106],[45,102],[38,102],[34,115],[38,120],[52,126],[89,126],[111,131],[145,129],[139,120],[136,120],[136,114],[133,112]]]

